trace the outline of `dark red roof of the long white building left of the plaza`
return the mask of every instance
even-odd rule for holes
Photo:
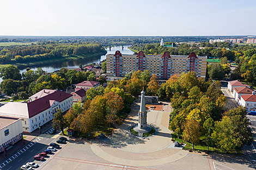
[[[62,91],[54,91],[53,93],[50,93],[50,95],[29,102],[28,116],[29,118],[31,118],[39,114],[40,112],[51,108],[51,104],[53,104],[54,100],[57,102],[62,102],[63,100],[68,99],[69,97],[72,97],[72,95],[70,95],[69,93],[65,93]]]

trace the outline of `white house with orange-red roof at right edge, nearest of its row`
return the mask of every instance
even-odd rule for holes
[[[256,95],[255,95],[255,92],[253,92],[251,95],[241,96],[241,100],[239,100],[239,105],[245,107],[247,112],[256,113]]]

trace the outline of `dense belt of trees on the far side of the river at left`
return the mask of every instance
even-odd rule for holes
[[[41,43],[26,46],[5,46],[0,48],[1,64],[35,62],[61,59],[69,56],[106,54],[98,43]]]

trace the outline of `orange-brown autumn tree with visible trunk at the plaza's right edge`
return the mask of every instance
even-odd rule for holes
[[[199,123],[193,119],[189,119],[185,124],[183,135],[184,141],[191,142],[192,149],[194,149],[194,144],[199,142],[200,135],[201,132]]]

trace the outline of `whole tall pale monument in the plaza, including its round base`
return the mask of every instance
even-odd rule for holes
[[[148,133],[151,130],[151,127],[147,124],[147,111],[145,105],[145,92],[141,92],[141,107],[138,112],[138,124],[133,128],[138,132],[138,136]]]

